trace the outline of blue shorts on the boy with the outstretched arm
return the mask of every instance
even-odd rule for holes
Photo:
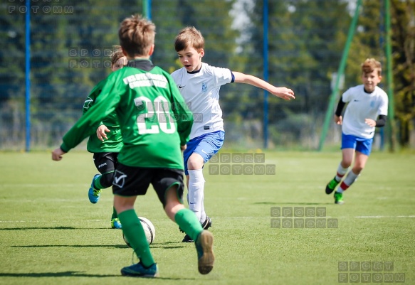
[[[214,131],[213,133],[203,134],[187,143],[187,149],[183,152],[184,173],[189,175],[187,169],[187,161],[191,154],[196,153],[203,157],[204,163],[208,162],[212,156],[218,153],[219,149],[224,145],[225,132]]]

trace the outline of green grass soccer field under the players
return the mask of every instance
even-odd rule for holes
[[[132,249],[121,230],[110,229],[111,190],[98,204],[88,200],[96,172],[91,154],[73,151],[60,162],[49,152],[0,158],[0,284],[327,285],[339,284],[339,274],[368,272],[404,274],[405,284],[415,284],[415,154],[372,154],[345,205],[324,193],[340,151],[266,153],[275,175],[209,176],[206,165],[205,207],[216,254],[206,276],[197,271],[194,244],[182,243],[149,189],[136,210],[156,228],[151,249],[159,279],[120,276],[132,264]],[[323,208],[338,226],[274,228],[271,218],[280,219],[271,217],[274,207]],[[393,262],[393,268],[340,271],[345,262]]]

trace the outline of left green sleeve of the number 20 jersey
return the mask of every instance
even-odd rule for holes
[[[98,97],[98,100],[95,100],[95,104],[63,136],[63,143],[61,144],[63,151],[70,151],[70,149],[78,146],[83,139],[94,134],[97,124],[115,110],[117,103],[120,101],[121,92],[118,92],[113,81],[108,80],[105,82],[100,97]]]

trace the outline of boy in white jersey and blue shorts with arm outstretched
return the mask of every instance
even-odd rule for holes
[[[258,77],[233,72],[227,68],[216,68],[201,62],[204,56],[204,38],[194,27],[179,32],[174,48],[183,68],[172,73],[184,100],[194,113],[190,141],[184,151],[184,171],[187,178],[189,208],[199,218],[206,230],[211,219],[204,210],[204,163],[216,154],[224,144],[224,120],[219,106],[221,85],[231,82],[250,84],[284,100],[294,99],[294,92],[285,87],[275,87]],[[193,242],[186,235],[183,242]]]

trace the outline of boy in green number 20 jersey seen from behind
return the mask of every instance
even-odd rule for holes
[[[127,66],[107,77],[93,107],[63,136],[63,143],[52,151],[52,159],[93,134],[96,125],[115,111],[124,146],[118,154],[112,193],[114,207],[137,264],[121,269],[121,274],[137,277],[158,276],[134,203],[145,195],[151,183],[167,216],[196,242],[198,267],[208,274],[214,266],[213,240],[203,230],[194,213],[183,205],[184,165],[193,116],[168,72],[154,66],[149,57],[154,51],[155,26],[141,16],[122,21],[118,31]],[[95,129],[94,129],[95,127]]]

